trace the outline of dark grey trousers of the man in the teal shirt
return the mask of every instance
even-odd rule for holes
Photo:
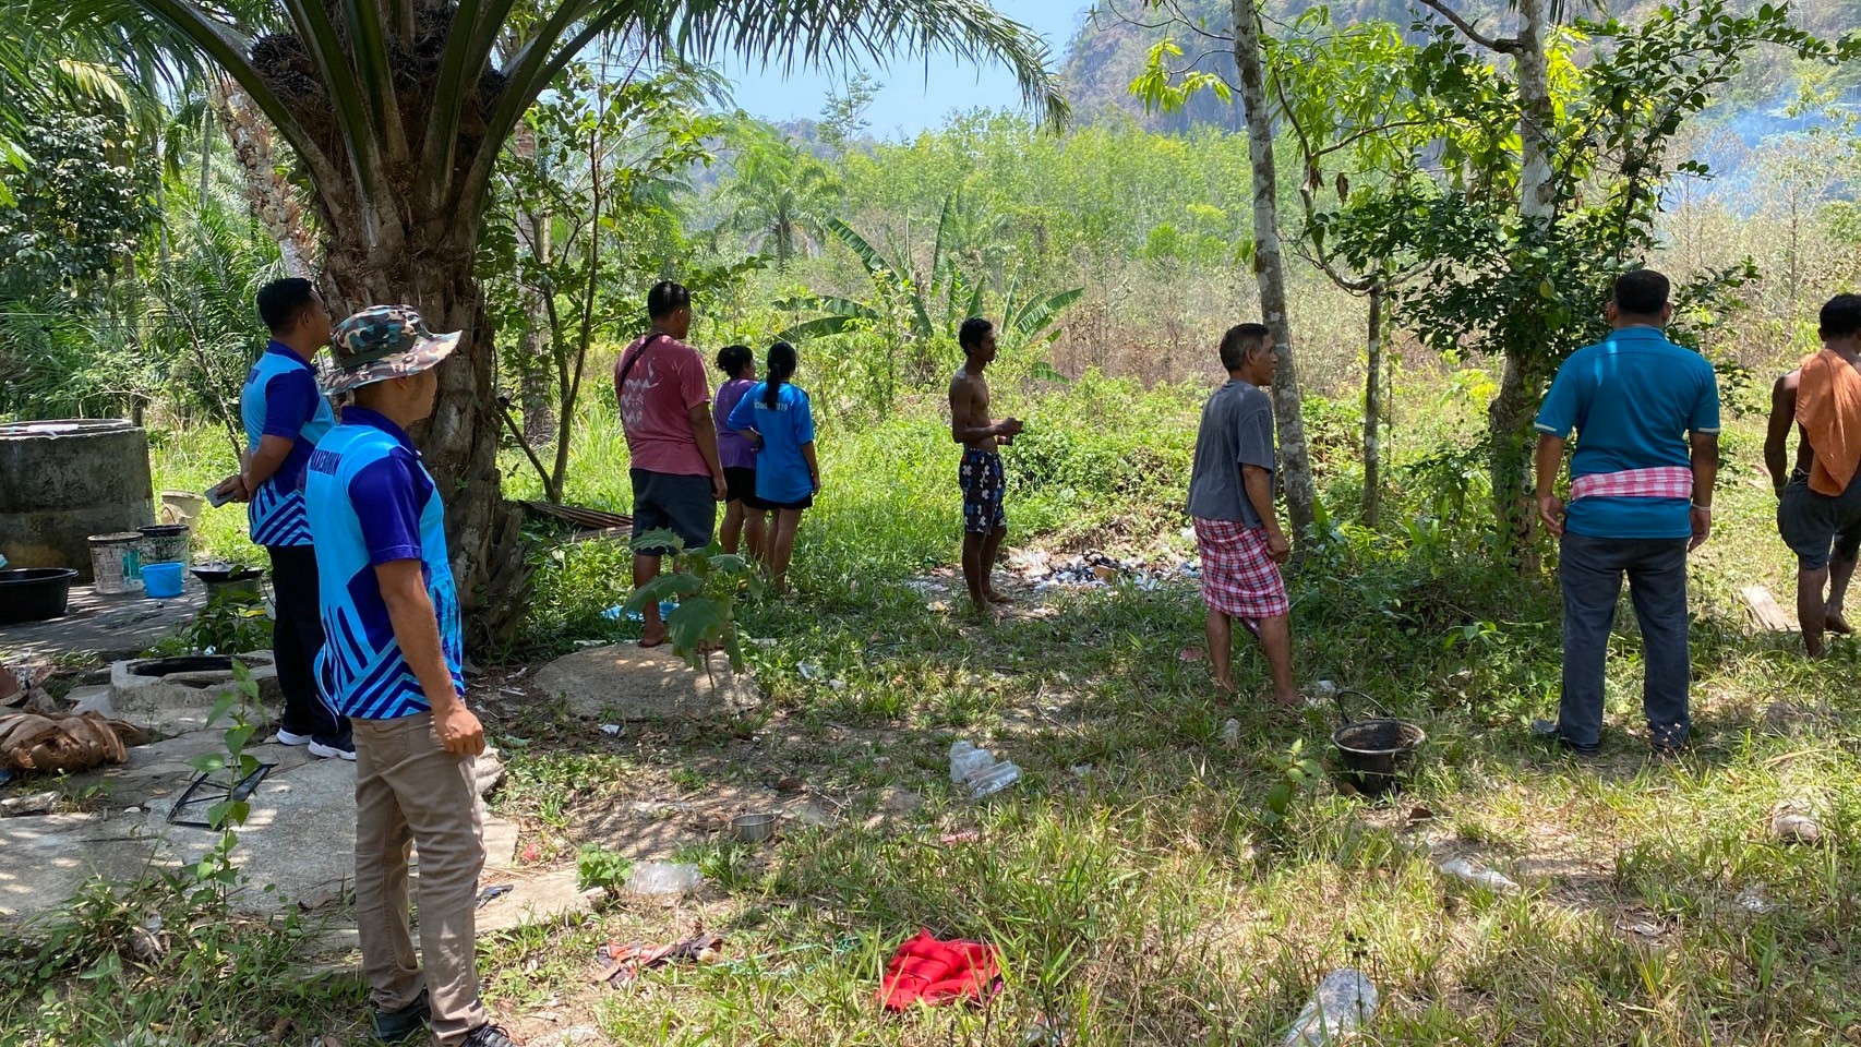
[[[1649,740],[1679,746],[1690,720],[1686,692],[1692,662],[1686,647],[1684,537],[1587,537],[1565,534],[1558,582],[1563,588],[1563,703],[1558,729],[1578,746],[1602,736],[1602,662],[1615,625],[1615,601],[1628,577],[1641,623],[1641,709]]]

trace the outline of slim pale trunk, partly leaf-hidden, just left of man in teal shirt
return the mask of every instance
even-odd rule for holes
[[[1519,46],[1515,78],[1519,82],[1519,218],[1524,219],[1528,242],[1533,231],[1548,227],[1556,218],[1556,184],[1550,167],[1550,130],[1556,110],[1550,100],[1550,71],[1545,58],[1546,0],[1519,0]],[[1520,563],[1532,560],[1532,392],[1535,370],[1532,355],[1537,346],[1507,344],[1500,391],[1487,409],[1491,437],[1493,508],[1506,543]]]

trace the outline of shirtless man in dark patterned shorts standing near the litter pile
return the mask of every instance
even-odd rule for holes
[[[962,370],[949,379],[949,437],[962,444],[962,469],[957,472],[962,484],[962,580],[970,586],[975,612],[999,617],[999,604],[1012,601],[990,578],[1001,539],[1009,534],[1009,515],[1001,508],[1001,452],[996,448],[1014,443],[1022,422],[988,417],[983,370],[996,359],[996,325],[971,316],[962,322],[957,342],[962,346]]]

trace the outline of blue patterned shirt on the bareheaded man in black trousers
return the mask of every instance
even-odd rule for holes
[[[272,342],[246,372],[238,396],[246,422],[246,450],[257,452],[261,437],[296,441],[290,454],[259,489],[248,510],[253,545],[309,545],[303,517],[303,467],[316,441],[337,424],[329,402],[316,392],[316,372],[290,346]]]

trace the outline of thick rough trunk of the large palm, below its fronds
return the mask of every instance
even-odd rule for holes
[[[499,450],[499,407],[491,400],[491,318],[473,275],[471,229],[422,245],[409,234],[408,251],[372,258],[368,247],[335,229],[324,266],[331,312],[344,316],[376,303],[409,303],[434,331],[465,331],[460,348],[439,364],[434,417],[409,433],[421,448],[447,506],[447,552],[465,610],[471,649],[510,640],[529,595],[521,511],[504,502]],[[415,225],[409,232],[424,227]],[[469,236],[469,240],[467,240]],[[463,240],[452,242],[452,240]]]

